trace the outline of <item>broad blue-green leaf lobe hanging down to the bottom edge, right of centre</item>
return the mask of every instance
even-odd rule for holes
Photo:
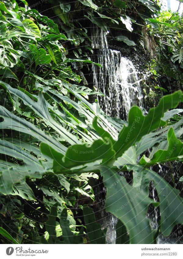
[[[129,185],[125,178],[107,166],[100,167],[106,187],[106,210],[119,218],[129,233],[130,243],[150,244],[153,232],[147,219],[151,200],[144,190]]]

